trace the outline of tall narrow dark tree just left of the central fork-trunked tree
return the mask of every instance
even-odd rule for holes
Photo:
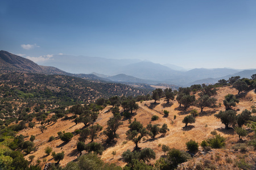
[[[117,114],[113,118],[110,118],[107,122],[108,127],[103,133],[108,137],[109,141],[112,141],[114,138],[118,138],[118,134],[116,134],[117,129],[123,123],[121,122],[121,115]]]

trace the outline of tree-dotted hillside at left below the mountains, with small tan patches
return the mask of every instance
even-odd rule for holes
[[[8,73],[0,83],[19,91],[25,98],[61,99],[62,101],[92,101],[100,97],[146,95],[150,91],[119,83],[94,83],[66,75]],[[14,94],[9,93],[9,96]]]

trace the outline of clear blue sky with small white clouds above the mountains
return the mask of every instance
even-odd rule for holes
[[[256,68],[256,1],[0,1],[0,50]]]

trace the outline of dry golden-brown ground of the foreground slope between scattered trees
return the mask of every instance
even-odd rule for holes
[[[135,111],[131,120],[133,121],[134,118],[137,121],[140,121],[143,126],[147,126],[151,122],[151,124],[167,124],[170,131],[168,131],[165,135],[158,134],[155,139],[151,139],[150,137],[145,138],[139,143],[139,147],[146,148],[150,147],[152,150],[156,152],[156,159],[151,160],[151,164],[155,163],[157,159],[160,158],[164,153],[162,151],[161,145],[167,145],[170,148],[177,148],[180,150],[186,150],[185,143],[188,142],[190,139],[201,142],[208,137],[212,137],[210,134],[211,131],[216,130],[217,133],[220,133],[224,136],[226,140],[226,146],[221,149],[213,149],[208,153],[199,152],[196,156],[187,163],[183,163],[180,165],[180,169],[193,169],[199,164],[204,165],[205,160],[209,160],[212,164],[216,165],[217,168],[220,169],[239,169],[236,167],[235,162],[236,159],[243,158],[250,159],[251,156],[254,155],[255,158],[255,151],[252,147],[247,147],[246,152],[234,151],[232,146],[240,143],[238,141],[238,135],[234,133],[234,130],[225,130],[224,124],[221,124],[221,121],[214,117],[214,114],[218,113],[219,111],[225,111],[225,107],[222,104],[222,100],[224,100],[224,96],[228,94],[237,94],[238,91],[234,88],[230,87],[222,87],[218,88],[217,95],[213,96],[217,99],[218,103],[221,103],[221,107],[217,108],[204,108],[204,112],[200,113],[200,109],[196,107],[189,107],[187,111],[184,111],[183,107],[179,108],[179,104],[177,101],[171,101],[170,104],[167,104],[166,101],[163,99],[157,101],[154,104],[154,101],[142,101],[139,104],[139,109]],[[245,94],[241,94],[240,103],[237,104],[234,109],[237,113],[241,113],[244,109],[248,109],[251,111],[251,106],[256,104],[256,94],[254,91],[246,92]],[[96,121],[97,124],[104,126],[106,128],[106,122],[109,120],[109,117],[112,116],[111,112],[108,112],[110,106],[103,109]],[[121,109],[121,108],[120,108]],[[191,112],[192,109],[196,109],[199,112],[199,116],[196,117],[195,124],[189,124],[187,129],[183,129],[184,124],[182,120],[185,116]],[[163,111],[169,111],[169,116],[164,117]],[[151,121],[151,117],[153,115],[159,116],[159,120]],[[176,119],[174,120],[174,115],[176,115]],[[72,116],[72,114],[68,115]],[[121,160],[122,152],[126,151],[127,149],[133,150],[134,143],[131,141],[126,140],[126,131],[129,129],[129,120],[123,119],[123,125],[117,130],[117,134],[119,134],[119,138],[115,145],[110,145],[105,143],[106,137],[102,134],[102,131],[98,133],[98,138],[94,140],[95,142],[102,142],[106,150],[101,155],[102,160],[108,163],[115,163],[117,165],[125,165],[124,162]],[[72,160],[75,160],[79,156],[79,152],[76,150],[76,143],[78,141],[79,135],[75,135],[72,140],[68,143],[64,143],[59,138],[57,138],[58,131],[65,131],[73,133],[76,129],[84,128],[84,124],[75,124],[73,120],[66,120],[63,121],[59,119],[55,124],[47,125],[47,130],[42,133],[38,128],[40,124],[36,122],[36,127],[34,129],[25,129],[19,132],[19,134],[23,135],[35,135],[36,139],[34,141],[35,145],[38,149],[35,152],[31,152],[25,156],[28,159],[28,156],[35,155],[35,158],[32,163],[35,163],[36,160],[42,160],[42,165],[48,162],[54,162],[52,156],[47,156],[44,153],[44,148],[50,146],[53,148],[53,151],[65,152],[65,158],[61,160],[60,164],[65,165]],[[246,128],[246,127],[245,127]],[[253,132],[250,131],[248,137],[243,138],[243,143],[249,141],[250,137],[253,135]],[[56,139],[54,141],[48,142],[49,137],[54,136]],[[29,140],[29,138],[27,138]],[[86,143],[90,142],[90,140],[86,141]],[[200,150],[201,147],[200,147]],[[116,155],[112,155],[112,152],[116,151]],[[212,156],[213,155],[213,156]],[[232,159],[232,162],[228,163],[226,158]]]

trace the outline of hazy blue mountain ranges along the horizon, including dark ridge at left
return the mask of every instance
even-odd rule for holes
[[[254,70],[236,69],[192,69],[185,71],[182,67],[166,64],[160,65],[139,59],[108,59],[100,57],[56,55],[40,66],[29,59],[0,51],[1,71],[21,71],[28,73],[60,74],[79,78],[106,81],[174,84],[176,86],[191,86],[192,84],[211,84],[220,79],[240,75],[250,78]],[[171,69],[172,68],[172,69]],[[64,71],[63,71],[64,70]],[[87,74],[85,74],[87,73]]]

